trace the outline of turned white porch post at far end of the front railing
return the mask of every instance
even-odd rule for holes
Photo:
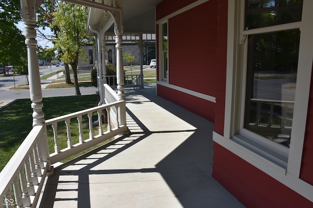
[[[124,93],[124,68],[123,68],[123,38],[121,31],[118,31],[117,24],[114,28],[115,32],[115,43],[116,43],[116,78],[117,78],[117,96],[118,100],[125,100]],[[120,125],[126,126],[126,106],[120,108]]]

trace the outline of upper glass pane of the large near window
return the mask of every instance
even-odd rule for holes
[[[303,0],[246,0],[245,30],[301,21]]]

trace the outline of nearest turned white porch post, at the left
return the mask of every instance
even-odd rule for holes
[[[41,90],[41,81],[39,74],[38,59],[36,53],[36,9],[40,5],[41,1],[38,0],[21,0],[21,14],[25,24],[24,36],[25,44],[27,45],[27,57],[28,57],[28,74],[29,74],[29,93],[30,100],[32,101],[31,108],[33,109],[33,127],[42,125],[45,126],[45,114],[43,112],[43,95]],[[42,153],[42,159],[46,162],[48,171],[51,170],[50,155],[48,151],[46,128],[40,135],[40,147]]]

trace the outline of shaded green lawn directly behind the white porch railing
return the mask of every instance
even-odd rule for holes
[[[50,119],[53,117],[95,107],[97,106],[98,101],[97,95],[82,95],[44,98],[43,103],[45,119]],[[21,99],[0,110],[0,170],[3,169],[3,167],[10,160],[15,151],[19,148],[24,138],[32,129],[32,109],[30,105],[31,101],[29,99]],[[96,113],[93,115],[92,120],[97,120]],[[88,116],[83,116],[83,123],[87,122]],[[71,136],[73,144],[77,143],[78,141],[77,126],[77,119],[72,119]],[[67,135],[64,129],[65,123],[58,123],[59,145],[61,149],[65,148],[67,144]],[[103,129],[104,131],[106,131],[106,125],[103,125]],[[94,135],[96,135],[98,132],[97,126],[94,126],[93,131],[95,133]],[[88,132],[88,126],[84,126],[83,135],[85,138],[89,137]],[[51,126],[47,126],[47,135],[49,152],[53,153],[54,139]],[[100,146],[106,142],[107,141],[97,146]],[[86,150],[84,152],[87,152],[89,150]],[[73,155],[71,158],[74,158],[76,156],[78,155]],[[71,158],[68,158],[67,160]]]

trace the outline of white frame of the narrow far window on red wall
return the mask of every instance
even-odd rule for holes
[[[163,51],[163,24],[167,24],[167,50],[166,51]],[[159,37],[159,60],[157,60],[158,62],[158,67],[159,67],[159,76],[160,76],[160,81],[163,81],[163,82],[166,82],[168,83],[168,75],[169,75],[169,67],[168,67],[168,63],[169,63],[169,42],[168,42],[168,21],[162,21],[160,22],[159,24],[159,34],[158,34],[158,37]],[[164,57],[163,57],[163,53],[164,52],[167,52],[167,75],[165,77],[164,75]]]

